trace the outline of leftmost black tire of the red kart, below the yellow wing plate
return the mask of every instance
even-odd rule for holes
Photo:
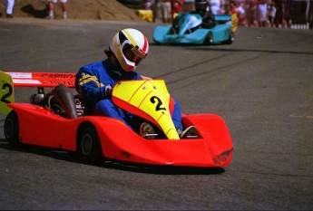
[[[21,145],[19,141],[19,122],[15,110],[12,110],[5,118],[5,139],[12,147]]]

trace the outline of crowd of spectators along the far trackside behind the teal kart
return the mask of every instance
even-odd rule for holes
[[[176,13],[194,10],[196,0],[145,0],[152,5],[154,20],[171,23]],[[239,26],[286,28],[308,24],[312,29],[310,0],[207,0],[212,14],[237,14]],[[192,6],[189,6],[192,5]]]

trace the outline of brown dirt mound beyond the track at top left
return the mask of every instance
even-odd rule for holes
[[[116,0],[68,0],[67,6],[68,19],[142,22],[135,10]],[[56,19],[63,18],[59,1],[54,12]],[[15,0],[15,17],[47,18],[48,14],[46,0]],[[0,2],[0,15],[5,17],[5,1]]]

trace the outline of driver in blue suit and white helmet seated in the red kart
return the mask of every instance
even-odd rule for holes
[[[86,107],[91,109],[91,114],[122,120],[142,137],[155,139],[157,134],[152,124],[118,108],[111,98],[112,87],[116,82],[142,79],[143,76],[134,70],[148,52],[149,43],[144,34],[132,28],[123,29],[113,36],[109,50],[104,50],[107,59],[80,68],[76,75],[75,88],[83,95]],[[197,135],[194,126],[182,131],[180,104],[174,101],[171,118],[180,137]]]

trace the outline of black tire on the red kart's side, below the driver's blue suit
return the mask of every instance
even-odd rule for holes
[[[84,163],[95,163],[103,158],[98,133],[93,125],[83,126],[77,138],[78,156]]]

